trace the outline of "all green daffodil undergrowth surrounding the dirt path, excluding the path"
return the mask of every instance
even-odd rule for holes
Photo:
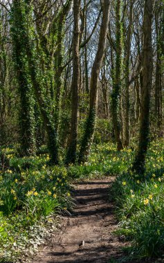
[[[93,145],[83,165],[51,166],[46,148],[20,158],[17,145],[3,148],[8,167],[0,174],[0,257],[15,262],[33,254],[55,228],[56,215],[71,212],[72,182],[116,176],[111,188],[119,221],[117,235],[131,240],[128,258],[162,257],[164,248],[164,140],[147,154],[145,178],[128,172],[134,149],[117,152],[113,143]],[[49,230],[48,230],[48,226]],[[25,251],[25,252],[23,252]],[[25,254],[24,254],[25,253]]]

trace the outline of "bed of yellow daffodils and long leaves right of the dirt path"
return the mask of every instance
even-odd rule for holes
[[[152,142],[145,176],[125,172],[113,183],[118,235],[132,241],[131,257],[162,257],[164,248],[164,140]]]

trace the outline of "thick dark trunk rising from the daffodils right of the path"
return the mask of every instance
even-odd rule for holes
[[[149,104],[152,89],[152,0],[145,0],[143,21],[143,89],[140,108],[140,137],[138,152],[132,170],[137,174],[145,172],[145,158],[149,144]]]

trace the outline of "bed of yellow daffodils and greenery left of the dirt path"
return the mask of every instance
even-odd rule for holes
[[[19,158],[10,147],[3,153],[10,166],[0,170],[0,261],[15,261],[30,228],[71,209],[71,188],[66,168],[49,166],[48,154]]]

